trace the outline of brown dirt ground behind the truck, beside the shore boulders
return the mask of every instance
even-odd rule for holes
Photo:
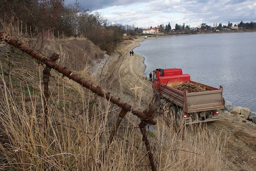
[[[220,111],[221,119],[207,123],[205,128],[217,135],[222,132],[222,140],[227,138],[226,170],[255,171],[256,124],[250,121],[244,123],[242,118],[229,114],[227,111]]]

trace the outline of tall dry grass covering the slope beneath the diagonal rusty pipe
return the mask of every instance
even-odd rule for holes
[[[43,67],[37,67],[28,56],[15,53],[13,57],[0,58],[0,169],[150,170],[137,117],[129,114],[124,118],[102,158],[120,108],[55,71],[51,71],[50,124],[44,137],[40,84]],[[79,74],[93,83],[98,81],[88,68]],[[156,119],[156,131],[148,131],[148,138],[158,170],[224,169],[220,135],[201,129],[200,125],[181,126],[176,131],[166,122],[168,118]]]

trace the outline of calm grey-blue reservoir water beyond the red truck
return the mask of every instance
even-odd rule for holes
[[[256,111],[256,32],[180,35],[140,42],[148,76],[181,68],[190,79],[219,88],[234,106]]]

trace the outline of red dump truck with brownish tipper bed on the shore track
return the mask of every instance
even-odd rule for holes
[[[153,72],[153,77],[152,77]],[[169,115],[177,122],[186,124],[202,123],[219,120],[219,109],[225,106],[222,96],[222,86],[215,88],[190,80],[188,74],[183,74],[181,69],[156,69],[149,74],[154,97],[160,107],[169,108]],[[177,85],[188,81],[193,85],[205,87],[203,92],[188,93],[175,89]]]

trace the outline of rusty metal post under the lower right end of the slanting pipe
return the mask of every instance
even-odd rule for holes
[[[155,165],[155,162],[154,162],[154,159],[153,159],[153,154],[152,154],[152,152],[150,150],[150,144],[148,142],[146,130],[145,130],[146,125],[147,124],[144,123],[143,121],[140,122],[140,124],[139,124],[140,132],[142,134],[142,140],[145,142],[145,146],[146,146],[146,149],[147,149],[147,153],[148,153],[148,158],[149,158],[149,161],[150,161],[151,169],[152,169],[152,171],[157,171],[156,165]]]

